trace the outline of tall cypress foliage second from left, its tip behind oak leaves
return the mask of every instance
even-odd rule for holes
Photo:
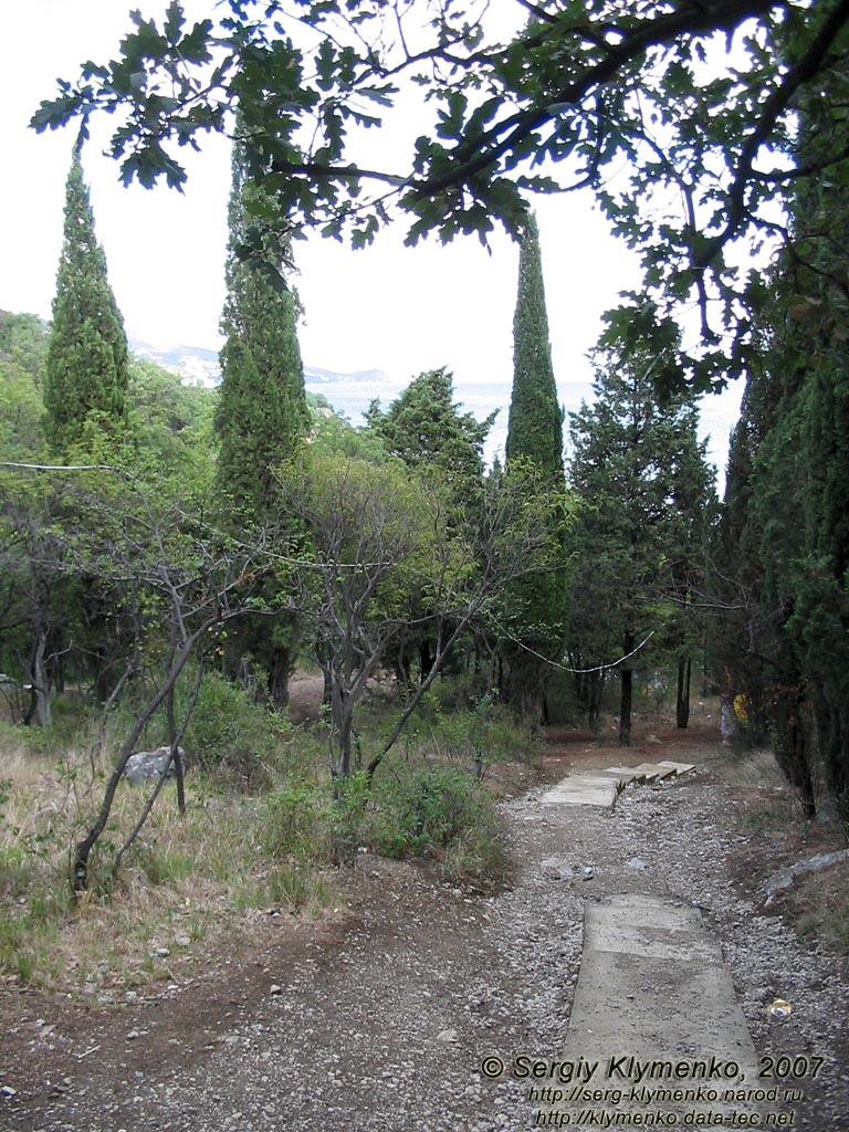
[[[215,415],[218,484],[233,505],[261,521],[274,469],[307,431],[309,411],[298,344],[297,298],[282,282],[277,249],[263,233],[263,200],[247,179],[239,146],[230,196],[226,342]],[[254,242],[254,255],[245,249]]]

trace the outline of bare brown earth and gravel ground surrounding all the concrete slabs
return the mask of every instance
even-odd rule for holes
[[[316,688],[295,689],[308,714]],[[0,988],[0,1127],[523,1132],[539,1106],[509,1066],[560,1054],[583,902],[644,891],[702,910],[758,1055],[791,1058],[779,1083],[803,1099],[787,1123],[849,1129],[849,963],[816,926],[841,907],[846,866],[769,906],[763,895],[781,867],[846,840],[834,823],[805,823],[769,761],[723,749],[718,724],[709,707],[687,731],[646,718],[627,752],[612,729],[609,745],[551,731],[541,765],[501,769],[514,863],[501,893],[363,854],[337,877],[338,908],[246,917],[238,935],[174,960],[168,983],[112,1001]],[[609,814],[540,801],[568,773],[658,758],[697,769],[629,787]],[[770,1012],[777,998],[789,1017]],[[491,1055],[508,1066],[498,1080],[481,1073]]]

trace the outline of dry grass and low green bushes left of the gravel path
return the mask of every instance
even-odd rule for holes
[[[271,910],[309,918],[338,911],[337,868],[365,849],[427,860],[471,890],[504,883],[495,801],[524,784],[528,763],[515,758],[533,749],[506,717],[446,713],[435,703],[370,788],[361,773],[334,788],[320,727],[275,723],[260,735],[252,709],[213,691],[197,715],[200,765],[189,748],[186,814],[166,783],[115,871],[147,796],[122,784],[91,859],[89,890],[76,900],[71,850],[91,827],[110,757],[92,754],[100,748],[85,721],[79,732],[52,738],[0,724],[7,980],[86,993],[171,980]],[[368,741],[377,744],[379,714],[369,726]],[[215,741],[224,744],[217,765]]]

